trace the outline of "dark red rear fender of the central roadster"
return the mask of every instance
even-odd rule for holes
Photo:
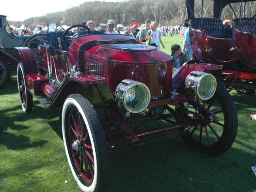
[[[20,60],[23,64],[25,74],[34,74],[37,73],[36,70],[36,61],[32,54],[32,51],[28,47],[15,47],[19,54]]]

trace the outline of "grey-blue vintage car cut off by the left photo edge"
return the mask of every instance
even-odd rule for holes
[[[10,65],[17,66],[20,55],[14,47],[27,46],[34,52],[38,44],[46,43],[46,34],[31,34],[28,25],[15,34],[6,20],[5,15],[0,15],[0,88],[6,86],[11,77]],[[36,52],[37,53],[37,52]]]

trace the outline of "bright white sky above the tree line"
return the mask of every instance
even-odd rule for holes
[[[94,0],[1,0],[0,15],[6,15],[7,20],[24,21],[30,17],[40,17],[47,13],[64,11],[84,2]],[[118,2],[121,0],[100,0]]]

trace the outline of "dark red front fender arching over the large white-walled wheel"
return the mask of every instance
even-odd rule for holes
[[[48,109],[63,106],[66,98],[71,94],[81,94],[92,105],[114,100],[114,96],[108,84],[106,84],[104,77],[84,75],[66,79]]]

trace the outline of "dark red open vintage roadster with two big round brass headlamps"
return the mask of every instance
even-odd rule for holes
[[[88,28],[72,34],[74,27],[87,28],[48,32],[38,62],[29,48],[17,48],[17,78],[25,112],[32,110],[32,95],[49,110],[62,107],[66,155],[83,191],[105,189],[108,151],[120,143],[140,144],[142,137],[178,130],[184,142],[210,156],[232,146],[234,102],[205,72],[222,66],[187,64],[172,74],[172,57],[154,46]]]

